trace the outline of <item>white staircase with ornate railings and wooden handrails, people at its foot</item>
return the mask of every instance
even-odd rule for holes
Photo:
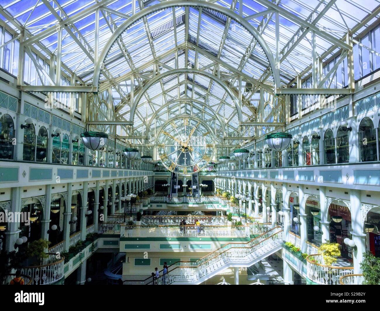
[[[250,267],[279,251],[282,247],[281,227],[259,235],[247,243],[228,243],[196,262],[178,262],[169,273],[149,284],[201,284],[230,267]]]

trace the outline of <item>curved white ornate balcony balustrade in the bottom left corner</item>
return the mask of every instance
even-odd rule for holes
[[[63,278],[64,260],[63,256],[57,259],[57,254],[49,254],[42,265],[21,268],[21,274],[32,279],[31,285],[52,284]]]

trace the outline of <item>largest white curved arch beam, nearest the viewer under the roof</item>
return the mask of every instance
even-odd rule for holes
[[[142,17],[148,16],[149,14],[155,11],[171,8],[171,7],[178,7],[178,6],[197,6],[197,7],[200,6],[202,8],[213,9],[222,14],[225,14],[226,16],[231,17],[231,19],[241,24],[244,28],[248,30],[248,32],[250,32],[250,34],[260,44],[266,57],[268,58],[269,65],[271,66],[271,69],[272,69],[274,87],[275,88],[280,87],[280,73],[275,69],[276,68],[275,60],[272,55],[272,52],[269,49],[268,44],[266,44],[266,41],[264,40],[264,38],[260,35],[260,33],[254,27],[252,27],[252,25],[248,21],[246,21],[243,17],[232,12],[230,9],[220,6],[220,5],[216,5],[215,3],[205,2],[205,1],[200,1],[200,0],[192,0],[192,1],[173,0],[173,1],[161,2],[156,5],[149,6],[139,11],[138,13],[134,14],[130,18],[128,18],[127,21],[125,21],[122,25],[119,26],[119,28],[117,28],[117,30],[112,34],[112,36],[108,39],[107,43],[103,47],[103,50],[101,51],[99,58],[97,62],[95,63],[92,85],[98,88],[99,79],[100,79],[100,71],[101,71],[101,67],[104,66],[104,61],[106,59],[106,56],[108,55],[108,52],[111,49],[112,45],[116,42],[117,38],[119,38],[119,36],[122,35],[122,33],[125,32],[125,30],[127,30],[128,27],[130,27],[132,24],[134,24],[136,21],[138,21]]]

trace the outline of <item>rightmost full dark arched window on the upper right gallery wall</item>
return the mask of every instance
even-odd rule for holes
[[[376,133],[374,123],[368,117],[360,122],[359,132],[360,161],[377,161]]]

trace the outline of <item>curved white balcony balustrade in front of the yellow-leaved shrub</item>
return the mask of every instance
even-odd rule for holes
[[[323,263],[321,254],[306,257],[307,277],[310,281],[321,285],[337,285],[342,276],[353,274],[353,267],[328,266]]]

